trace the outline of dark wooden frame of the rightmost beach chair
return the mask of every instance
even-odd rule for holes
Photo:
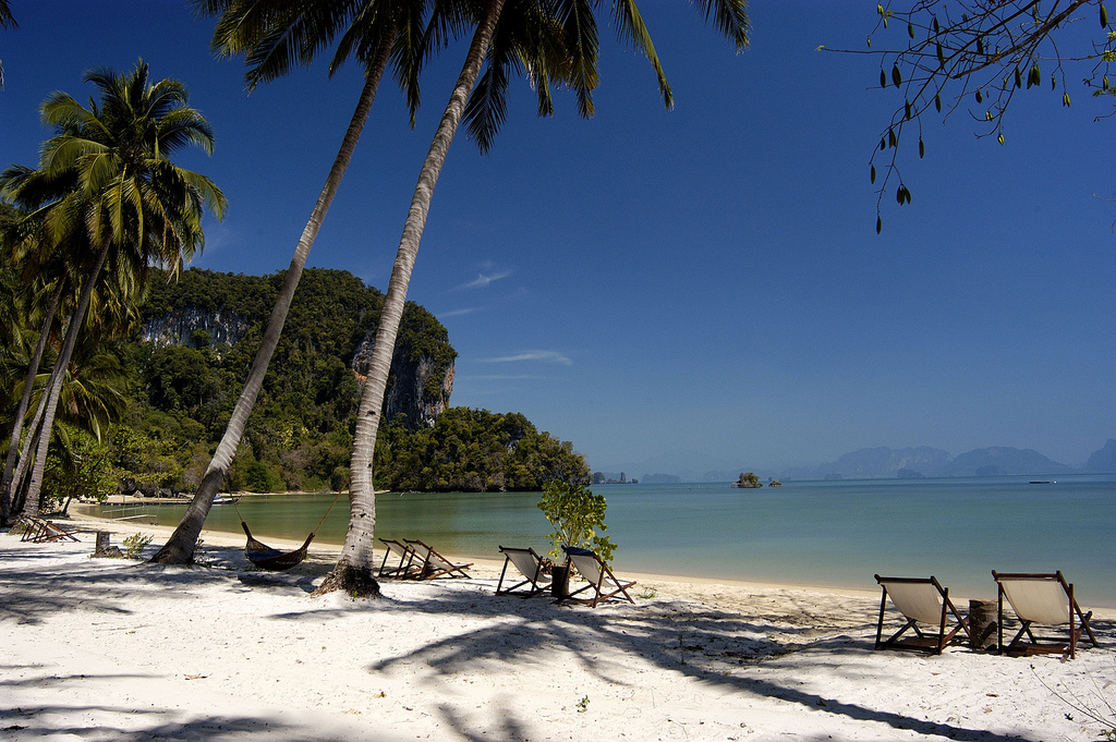
[[[998,614],[997,614],[997,625],[998,625],[998,646],[1000,654],[1061,654],[1068,655],[1072,659],[1077,655],[1077,644],[1081,639],[1081,635],[1088,637],[1088,640],[1093,643],[1093,646],[1100,646],[1097,642],[1097,637],[1093,634],[1093,627],[1089,621],[1093,618],[1093,611],[1085,613],[1081,610],[1081,606],[1078,605],[1077,599],[1074,597],[1074,586],[1066,581],[1065,576],[1061,571],[1057,572],[998,572],[992,570],[992,579],[995,580],[997,585],[997,603]],[[1065,608],[1065,613],[1060,616],[1052,615],[1040,615],[1042,613],[1041,608],[1038,608],[1032,613],[1030,606],[1024,606],[1022,614],[1019,611],[1019,606],[1017,603],[1021,603],[1020,597],[1016,596],[1014,599],[1011,595],[1011,588],[1008,587],[1012,582],[1032,582],[1032,584],[1043,584],[1050,586],[1048,589],[1055,590],[1057,594],[1056,600],[1059,601],[1059,609]],[[1060,587],[1060,592],[1057,592],[1057,588]],[[1019,633],[1016,634],[1014,638],[1011,639],[1007,645],[1003,644],[1003,599],[1008,598],[1011,609],[1016,614],[1016,618],[1019,619],[1021,627]],[[1064,603],[1061,603],[1064,601]],[[1047,606],[1051,607],[1052,606]],[[1048,614],[1051,611],[1047,611]],[[1057,618],[1057,620],[1055,620]],[[1039,624],[1041,626],[1060,626],[1061,624],[1069,624],[1069,637],[1068,640],[1062,642],[1059,639],[1051,639],[1048,637],[1037,637],[1031,630],[1031,626]],[[1023,637],[1030,639],[1030,643],[1024,643]]]

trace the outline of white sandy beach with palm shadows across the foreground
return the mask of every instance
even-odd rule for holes
[[[328,547],[268,574],[203,539],[152,568],[0,534],[0,739],[1098,740],[1058,695],[1116,704],[1113,610],[1072,662],[925,657],[873,651],[868,591],[625,574],[654,597],[593,610],[497,597],[491,561],[355,601],[309,595]]]

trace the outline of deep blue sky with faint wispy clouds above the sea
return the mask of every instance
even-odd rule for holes
[[[924,124],[913,193],[876,195],[892,110],[864,48],[875,4],[756,0],[734,55],[677,0],[643,0],[675,95],[604,31],[597,115],[538,119],[526,83],[488,156],[454,143],[408,297],[460,353],[452,403],[525,413],[595,470],[700,474],[831,461],[877,445],[1035,449],[1080,464],[1116,437],[1112,102],[1017,97],[1007,144],[962,110]],[[194,264],[287,267],[360,87],[324,65],[246,95],[177,0],[13,0],[0,32],[0,161],[33,164],[37,106],[138,57],[213,124],[181,162],[230,212]],[[883,38],[877,37],[876,47]],[[381,88],[310,254],[386,288],[463,47],[423,81],[419,126]],[[1080,75],[1070,73],[1070,79]]]

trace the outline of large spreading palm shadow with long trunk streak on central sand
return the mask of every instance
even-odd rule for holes
[[[386,672],[396,665],[417,662],[445,676],[475,672],[480,664],[492,664],[496,672],[506,672],[508,665],[531,661],[539,653],[562,652],[598,678],[618,683],[619,674],[613,676],[614,661],[608,657],[638,656],[662,671],[681,673],[703,684],[798,704],[804,711],[821,710],[850,720],[885,724],[904,733],[980,742],[1019,739],[826,697],[748,672],[750,666],[780,662],[804,651],[818,654],[817,662],[828,658],[846,674],[857,672],[863,658],[874,651],[875,638],[875,601],[862,603],[850,607],[850,615],[856,618],[850,618],[839,630],[819,635],[811,626],[788,626],[683,600],[657,599],[636,607],[590,610],[554,606],[542,599],[521,601],[490,596],[479,603],[464,590],[446,591],[423,603],[421,609],[510,620],[484,621],[474,629],[430,642],[413,652],[377,659],[368,669]],[[1106,634],[1109,640],[1116,638],[1114,628],[1105,621],[1094,625],[1098,638]],[[444,710],[443,713],[448,723],[473,739],[462,720]],[[516,730],[518,726],[509,726],[507,739],[517,739]]]

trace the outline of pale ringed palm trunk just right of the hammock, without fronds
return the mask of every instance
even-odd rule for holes
[[[465,57],[464,67],[458,77],[458,84],[450,96],[450,103],[442,115],[434,141],[430,145],[426,161],[419,173],[414,196],[411,199],[411,210],[403,225],[403,237],[398,251],[395,253],[395,264],[387,283],[387,296],[379,315],[379,326],[376,328],[376,345],[372,350],[368,379],[365,382],[360,396],[360,408],[356,418],[356,435],[353,445],[353,461],[349,468],[349,524],[341,547],[340,559],[325,581],[315,590],[316,594],[333,590],[345,590],[350,595],[376,596],[379,585],[373,577],[375,567],[375,528],[376,528],[376,494],[372,481],[373,453],[376,449],[376,434],[379,430],[379,417],[384,406],[384,393],[387,388],[387,375],[392,366],[392,355],[395,350],[395,336],[403,317],[403,305],[407,298],[407,285],[411,282],[411,271],[419,257],[419,243],[422,240],[423,228],[426,225],[426,214],[434,195],[437,176],[445,164],[445,155],[450,151],[453,135],[461,123],[465,103],[472,93],[481,65],[492,42],[497,20],[503,9],[504,0],[489,0],[484,16],[473,33]]]

